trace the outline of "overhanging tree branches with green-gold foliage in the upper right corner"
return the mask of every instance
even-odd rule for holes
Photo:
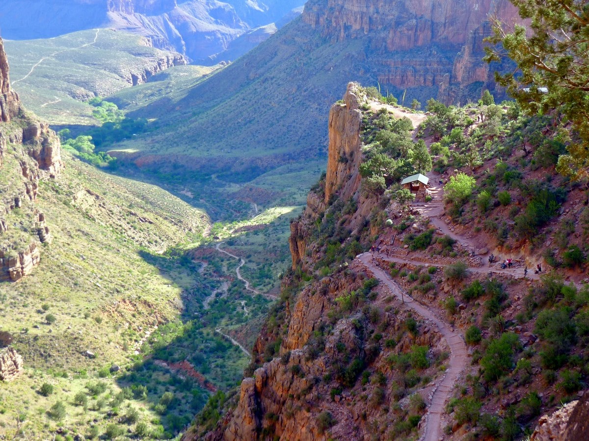
[[[587,103],[587,29],[586,4],[567,2],[565,8],[539,0],[516,0],[522,18],[530,19],[531,35],[524,26],[504,31],[499,19],[494,22],[492,44],[486,48],[487,60],[509,57],[518,69],[496,75],[507,86],[519,105],[531,115],[562,113],[573,123],[579,139],[570,143],[568,154],[558,159],[558,169],[570,175],[586,175],[589,143],[589,103]],[[499,46],[498,46],[499,47]],[[541,89],[545,88],[545,89]]]

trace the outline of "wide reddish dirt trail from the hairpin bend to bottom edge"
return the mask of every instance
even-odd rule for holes
[[[441,382],[438,382],[431,403],[429,403],[428,413],[426,414],[425,420],[425,434],[422,438],[425,441],[438,441],[442,433],[441,424],[444,405],[452,392],[452,388],[456,384],[456,379],[458,379],[458,376],[466,367],[467,356],[464,339],[462,339],[461,333],[451,328],[451,326],[444,320],[438,318],[435,312],[427,306],[416,302],[416,300],[409,296],[408,293],[404,293],[402,289],[391,280],[386,272],[372,263],[372,255],[370,253],[360,254],[356,256],[356,258],[359,259],[360,262],[362,262],[366,268],[368,268],[373,275],[380,280],[380,282],[385,283],[391,292],[405,303],[407,308],[413,309],[424,319],[433,323],[450,347],[448,367],[445,371],[444,378]]]

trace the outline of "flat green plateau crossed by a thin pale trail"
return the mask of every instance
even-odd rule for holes
[[[57,125],[94,125],[92,107],[82,100],[131,86],[131,72],[171,54],[145,46],[140,36],[110,29],[5,41],[5,48],[12,86],[25,106]]]

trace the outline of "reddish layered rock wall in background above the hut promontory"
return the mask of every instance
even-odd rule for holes
[[[332,42],[364,40],[384,88],[429,88],[429,96],[455,103],[493,88],[492,69],[482,62],[492,15],[521,22],[508,0],[311,0],[303,20]]]

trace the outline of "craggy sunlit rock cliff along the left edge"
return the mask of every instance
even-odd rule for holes
[[[22,109],[12,91],[0,39],[0,280],[18,280],[39,263],[39,243],[50,242],[45,216],[35,206],[39,179],[61,171],[61,145],[47,123]],[[16,214],[15,214],[16,213]],[[15,218],[18,218],[16,222]]]

